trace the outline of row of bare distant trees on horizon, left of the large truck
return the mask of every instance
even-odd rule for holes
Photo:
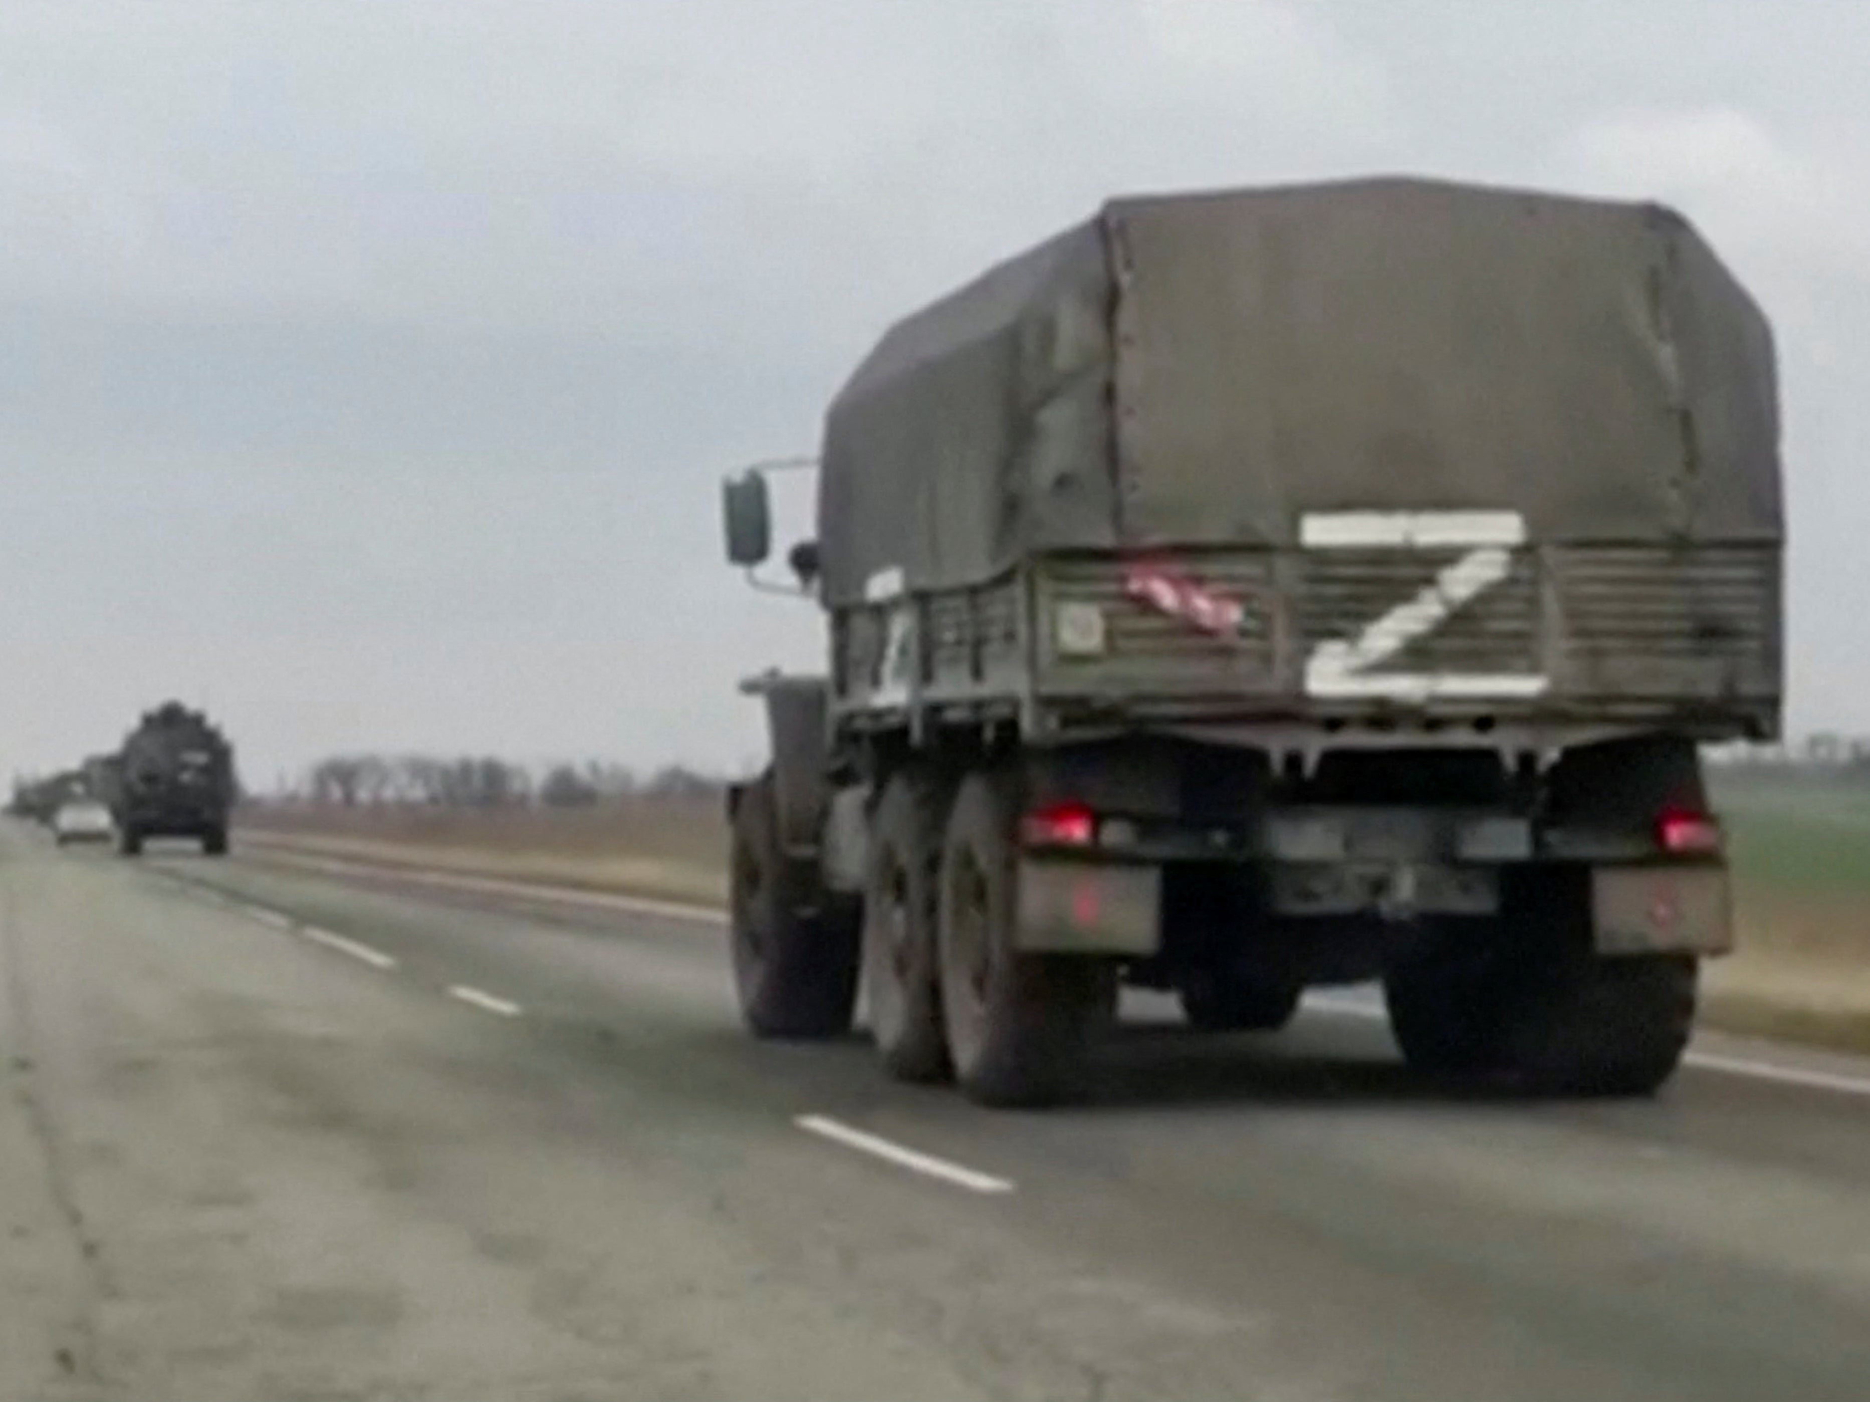
[[[580,808],[626,798],[705,796],[724,780],[669,765],[640,774],[606,761],[520,765],[490,755],[333,755],[273,802],[376,808]]]

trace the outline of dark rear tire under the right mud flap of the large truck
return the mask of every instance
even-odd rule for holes
[[[1509,1067],[1543,1095],[1653,1095],[1689,1047],[1694,985],[1685,955],[1556,961],[1515,1008]]]

